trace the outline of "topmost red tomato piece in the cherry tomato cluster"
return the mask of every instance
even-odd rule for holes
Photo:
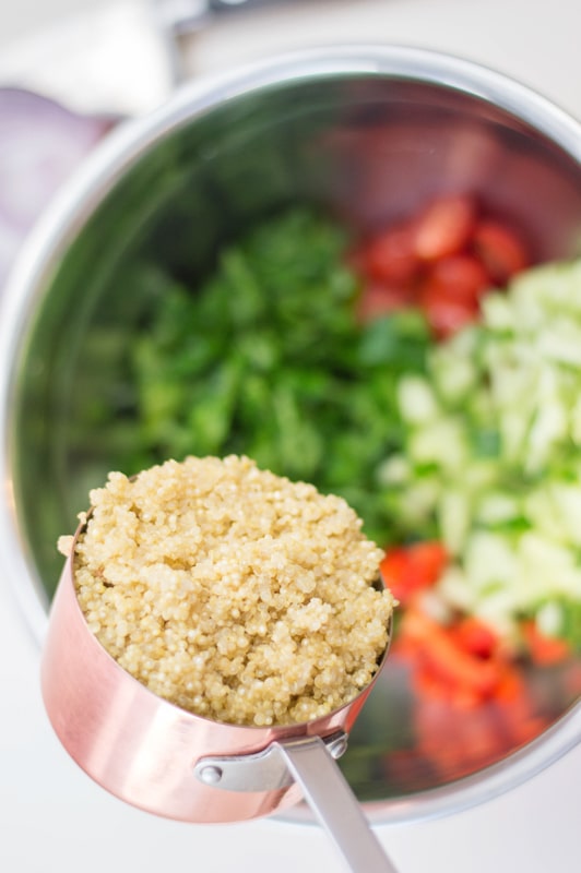
[[[435,200],[419,214],[415,253],[422,261],[458,254],[469,243],[476,222],[476,204],[467,194]]]

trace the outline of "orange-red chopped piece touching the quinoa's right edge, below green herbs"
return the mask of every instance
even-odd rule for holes
[[[393,596],[405,605],[417,591],[435,585],[447,563],[448,553],[440,542],[415,542],[390,549],[380,564],[380,573]]]

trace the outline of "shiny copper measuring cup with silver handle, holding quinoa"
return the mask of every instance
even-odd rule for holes
[[[134,806],[195,823],[257,818],[304,797],[353,871],[395,873],[335,764],[387,649],[372,681],[324,718],[268,728],[212,721],[158,697],[106,651],[79,605],[72,554],[74,546],[51,607],[42,690],[85,773]]]

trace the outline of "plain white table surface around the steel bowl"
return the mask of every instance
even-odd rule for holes
[[[82,0],[78,7],[80,15]],[[201,33],[192,41],[192,67],[206,74],[285,47],[331,40],[411,43],[496,67],[581,117],[579,0],[323,0],[298,7],[276,15],[248,14]],[[142,4],[103,3],[95,10],[91,3],[74,25],[59,23],[49,40],[44,27],[20,43],[8,40],[8,48],[2,29],[5,12],[0,12],[0,45],[4,44],[0,79],[3,73],[4,81],[34,85],[92,107],[110,100],[115,108],[145,111],[163,99],[169,87],[165,57],[147,29]],[[26,11],[24,3],[23,15]],[[15,10],[11,16],[11,27],[17,27]],[[114,34],[105,26],[112,20]],[[133,43],[127,49],[123,28],[129,25]],[[91,50],[78,40],[63,58],[62,41],[80,31],[85,39],[95,36]],[[128,56],[138,64],[131,73],[119,65]],[[115,59],[117,68],[104,64],[104,57]],[[2,873],[343,870],[315,826],[278,821],[185,825],[109,797],[55,739],[40,701],[38,668],[38,644],[16,609],[10,581],[0,578]],[[378,834],[400,873],[579,873],[580,810],[578,746],[526,785],[486,804],[439,821],[380,826]]]

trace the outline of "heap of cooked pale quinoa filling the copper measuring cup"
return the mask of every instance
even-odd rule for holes
[[[234,455],[111,473],[90,498],[79,602],[155,694],[218,721],[288,725],[370,682],[393,598],[374,587],[383,552],[343,499]]]

